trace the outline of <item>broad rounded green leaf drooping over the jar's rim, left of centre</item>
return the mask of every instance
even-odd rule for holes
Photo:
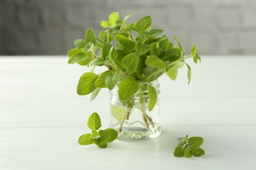
[[[139,82],[123,80],[119,84],[118,96],[121,100],[130,99],[139,90]]]

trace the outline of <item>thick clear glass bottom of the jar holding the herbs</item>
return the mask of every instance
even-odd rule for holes
[[[121,141],[148,141],[156,139],[161,133],[161,126],[154,129],[146,129],[143,127],[123,127],[123,131],[118,134]]]

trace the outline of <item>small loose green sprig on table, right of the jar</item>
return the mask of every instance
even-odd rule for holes
[[[199,157],[205,154],[204,150],[200,148],[203,144],[202,137],[190,137],[188,135],[179,140],[178,146],[174,150],[174,156],[191,158],[192,155]]]

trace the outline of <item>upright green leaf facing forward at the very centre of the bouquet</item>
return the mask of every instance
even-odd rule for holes
[[[139,56],[135,53],[128,54],[121,60],[121,65],[126,69],[129,75],[136,71],[139,63]]]

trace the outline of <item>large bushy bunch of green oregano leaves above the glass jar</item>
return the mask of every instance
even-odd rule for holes
[[[101,88],[112,90],[117,84],[118,95],[127,101],[141,91],[140,82],[148,84],[149,110],[156,104],[156,89],[151,82],[166,73],[172,80],[177,77],[177,70],[183,65],[188,68],[188,83],[191,79],[191,68],[185,59],[193,58],[195,63],[201,61],[196,44],[191,48],[191,54],[184,57],[184,50],[179,40],[174,37],[177,46],[169,41],[161,29],[151,29],[150,16],[141,18],[138,22],[127,24],[131,14],[119,19],[118,12],[112,12],[108,21],[100,24],[105,27],[99,36],[92,28],[87,29],[85,39],[74,41],[75,47],[68,51],[68,63],[78,63],[88,67],[106,66],[107,71],[96,74],[91,71],[84,73],[79,79],[77,93],[91,93],[91,101]],[[116,43],[114,43],[116,42]]]

